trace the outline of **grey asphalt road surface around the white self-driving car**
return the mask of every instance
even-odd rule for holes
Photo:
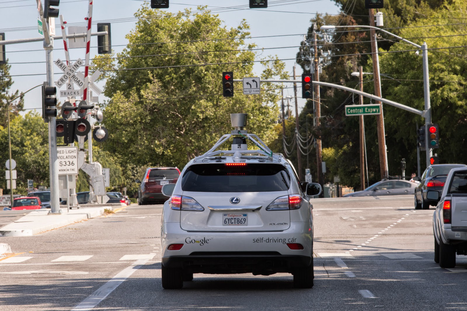
[[[0,261],[0,311],[467,309],[467,256],[449,270],[433,261],[433,207],[414,210],[410,195],[312,203],[312,289],[294,289],[281,273],[195,274],[183,289],[163,290],[162,206],[132,205],[40,235],[0,238],[21,253]]]

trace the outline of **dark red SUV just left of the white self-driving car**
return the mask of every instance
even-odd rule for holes
[[[167,200],[162,194],[163,185],[175,184],[180,176],[180,170],[177,167],[155,167],[148,168],[144,173],[141,185],[138,189],[138,204],[145,205],[159,203]]]

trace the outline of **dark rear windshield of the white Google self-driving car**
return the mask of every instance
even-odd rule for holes
[[[290,175],[280,164],[199,164],[190,166],[182,178],[183,191],[271,192],[288,190],[289,187]]]

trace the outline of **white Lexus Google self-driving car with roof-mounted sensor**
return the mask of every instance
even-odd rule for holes
[[[309,199],[321,186],[300,182],[288,159],[243,129],[246,117],[232,114],[235,130],[162,188],[170,196],[161,228],[164,289],[182,288],[193,273],[285,272],[295,287],[313,286]],[[217,150],[229,138],[232,150]]]

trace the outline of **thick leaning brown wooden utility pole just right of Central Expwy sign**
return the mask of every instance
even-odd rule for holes
[[[370,26],[375,27],[375,15],[373,14],[373,9],[369,9],[370,16]],[[371,56],[373,59],[373,81],[375,85],[375,95],[381,97],[381,81],[380,81],[380,70],[379,70],[379,60],[378,60],[378,47],[376,45],[376,33],[375,29],[370,28],[370,40],[371,40]],[[384,134],[384,118],[383,118],[383,109],[382,103],[376,101],[376,104],[381,105],[381,114],[376,116],[376,127],[378,129],[378,150],[380,157],[380,172],[381,179],[386,176],[389,176],[387,169],[387,159],[386,159],[386,138]]]

